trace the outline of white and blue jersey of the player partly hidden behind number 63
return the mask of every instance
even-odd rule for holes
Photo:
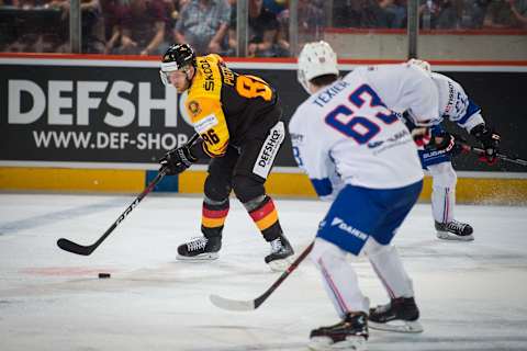
[[[457,81],[436,72],[431,72],[430,77],[439,94],[441,121],[448,118],[468,132],[478,124],[484,123],[481,109],[467,97],[463,88]]]

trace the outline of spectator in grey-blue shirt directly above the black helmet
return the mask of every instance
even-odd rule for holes
[[[200,56],[223,53],[229,16],[226,0],[191,0],[176,23],[176,42],[190,44]]]

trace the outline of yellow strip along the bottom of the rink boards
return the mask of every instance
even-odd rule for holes
[[[122,192],[141,193],[157,171],[130,169],[59,169],[0,168],[0,190],[56,192]],[[497,178],[497,177],[500,178]],[[202,193],[205,170],[189,170],[177,177],[166,177],[154,190],[159,192]],[[305,174],[295,169],[277,169],[266,183],[272,195],[315,197]],[[523,173],[460,172],[458,203],[501,205],[527,204],[527,177]],[[421,201],[430,200],[431,181],[425,177]]]

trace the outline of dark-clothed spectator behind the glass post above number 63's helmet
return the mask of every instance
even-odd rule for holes
[[[299,21],[299,47],[305,43],[323,39],[324,35],[324,11],[316,5],[314,0],[299,0],[298,21]],[[283,10],[278,15],[280,30],[278,34],[278,45],[289,52],[289,9]]]

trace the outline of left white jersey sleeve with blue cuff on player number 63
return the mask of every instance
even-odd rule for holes
[[[336,172],[324,138],[317,135],[316,123],[303,121],[307,117],[306,111],[296,110],[289,124],[294,159],[307,173],[316,194],[322,200],[332,200],[344,183]]]

